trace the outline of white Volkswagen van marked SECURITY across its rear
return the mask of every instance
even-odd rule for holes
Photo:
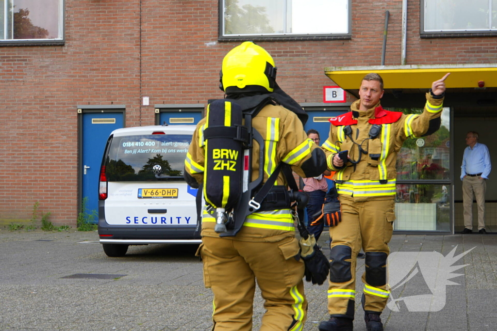
[[[149,126],[110,133],[99,176],[98,235],[109,257],[129,245],[191,243],[196,189],[183,179],[195,126]]]

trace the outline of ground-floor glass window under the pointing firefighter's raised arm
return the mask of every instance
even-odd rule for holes
[[[395,109],[420,114],[422,109]],[[450,231],[450,114],[444,108],[440,129],[407,139],[397,155],[394,230]]]

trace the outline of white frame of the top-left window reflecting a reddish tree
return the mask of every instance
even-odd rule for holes
[[[7,13],[10,15],[13,15],[13,7],[8,10],[8,4],[9,2],[14,2],[15,5],[15,0],[4,0],[3,1],[3,12],[4,12],[4,17],[3,21],[0,21],[0,24],[3,24],[3,34],[0,35],[0,46],[33,46],[33,45],[64,45],[64,40],[65,40],[65,7],[66,7],[66,1],[65,0],[58,0],[59,5],[58,5],[58,17],[59,17],[59,34],[55,38],[43,38],[43,39],[7,39],[7,33],[8,33],[8,26],[7,24],[8,19],[6,18]],[[11,24],[13,25],[13,20],[11,20]],[[10,29],[11,31],[13,30],[13,27]],[[13,33],[13,31],[12,31]]]

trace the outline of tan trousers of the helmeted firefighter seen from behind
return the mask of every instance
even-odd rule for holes
[[[266,312],[260,331],[301,331],[307,317],[298,240],[202,237],[204,283],[214,293],[213,331],[251,331],[255,281]]]

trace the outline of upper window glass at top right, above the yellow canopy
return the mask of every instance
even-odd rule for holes
[[[497,0],[422,0],[423,31],[497,31]]]

